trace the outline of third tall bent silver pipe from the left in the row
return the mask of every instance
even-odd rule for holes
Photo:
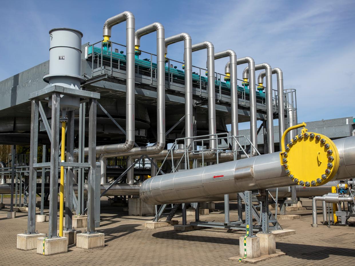
[[[192,43],[187,33],[180,33],[165,38],[165,54],[168,54],[168,46],[173,43],[184,41],[184,70],[185,70],[185,137],[190,138],[193,134],[192,121]],[[192,139],[186,140],[186,146],[192,150]]]

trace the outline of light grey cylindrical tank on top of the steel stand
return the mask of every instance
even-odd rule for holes
[[[49,74],[43,77],[49,85],[60,85],[80,89],[85,83],[81,77],[81,38],[83,34],[76,29],[55,28],[49,31]],[[49,99],[51,107],[51,99]],[[78,109],[80,98],[61,95],[60,108]]]

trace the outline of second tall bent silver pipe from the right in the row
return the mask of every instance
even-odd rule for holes
[[[255,70],[264,69],[266,72],[266,122],[267,122],[267,145],[268,153],[274,152],[274,118],[272,111],[272,73],[271,66],[268,63],[255,65]],[[249,78],[249,67],[243,71],[243,78]],[[250,82],[254,82],[249,79]]]

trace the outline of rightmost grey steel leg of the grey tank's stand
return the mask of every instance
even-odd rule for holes
[[[95,233],[95,179],[96,179],[96,111],[97,101],[91,99],[89,101],[89,156],[88,163],[90,170],[88,174],[88,218],[87,218],[87,232],[89,234]]]

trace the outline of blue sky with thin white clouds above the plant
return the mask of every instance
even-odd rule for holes
[[[78,29],[83,43],[93,43],[105,20],[125,10],[135,15],[136,29],[160,22],[165,37],[187,32],[192,43],[208,40],[216,52],[233,49],[281,68],[284,88],[297,90],[299,122],[355,116],[355,2],[345,0],[6,1],[0,80],[48,60],[51,28]],[[125,43],[124,24],[113,28],[111,40]],[[155,34],[142,38],[141,49],[156,51]],[[182,61],[182,54],[182,43],[169,47],[170,58]],[[225,63],[216,60],[215,70],[223,73]],[[194,53],[193,65],[206,66],[206,51]]]

